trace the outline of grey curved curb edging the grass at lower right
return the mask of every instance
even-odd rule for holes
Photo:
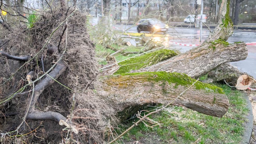
[[[240,144],[249,144],[252,137],[252,130],[253,130],[253,113],[252,113],[252,104],[248,98],[248,95],[244,93],[244,98],[246,100],[247,106],[246,108],[249,109],[249,113],[247,115],[248,122],[245,123],[245,131],[243,133],[243,138]]]

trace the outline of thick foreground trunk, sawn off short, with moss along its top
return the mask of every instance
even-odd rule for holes
[[[144,104],[168,104],[195,81],[179,73],[131,73],[105,77],[96,90],[106,103],[116,109],[116,117],[122,121]],[[229,102],[221,88],[197,82],[174,104],[222,117],[228,110]]]

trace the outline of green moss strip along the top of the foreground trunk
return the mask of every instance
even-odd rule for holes
[[[191,77],[187,76],[186,74],[180,74],[180,73],[168,73],[168,72],[139,72],[139,73],[122,73],[121,76],[126,76],[127,78],[136,78],[140,77],[141,81],[148,81],[148,82],[168,82],[169,84],[175,84],[177,86],[190,86],[192,85],[196,80],[192,79]],[[118,77],[114,76],[118,79]],[[113,78],[114,78],[113,77]],[[114,78],[114,79],[115,79]],[[113,80],[113,79],[112,79]],[[114,80],[115,81],[115,80]],[[211,85],[211,84],[205,84],[202,82],[196,82],[195,87],[198,90],[204,90],[206,92],[216,92],[220,94],[225,94],[224,91],[217,86]]]

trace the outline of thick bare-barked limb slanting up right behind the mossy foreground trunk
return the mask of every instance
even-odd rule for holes
[[[203,45],[179,54],[158,64],[148,66],[136,71],[166,71],[185,73],[192,78],[198,78],[214,70],[221,64],[231,61],[244,60],[247,57],[245,43],[225,46],[221,43],[211,48],[212,44],[204,42]]]

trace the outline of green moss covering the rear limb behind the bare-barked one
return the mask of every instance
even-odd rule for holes
[[[127,73],[132,70],[139,70],[147,66],[157,64],[160,61],[164,61],[177,55],[172,50],[161,49],[159,51],[148,53],[140,57],[131,58],[119,63],[121,66],[114,74]]]

